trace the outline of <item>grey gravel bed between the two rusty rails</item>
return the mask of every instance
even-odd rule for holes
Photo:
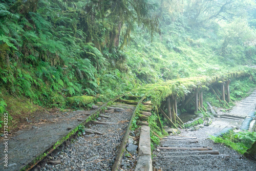
[[[40,170],[111,170],[132,110],[105,113],[110,118],[98,118],[98,121],[114,124],[89,125],[90,129],[103,135],[87,134],[78,137],[74,143],[49,159],[59,160],[61,164],[46,164]]]

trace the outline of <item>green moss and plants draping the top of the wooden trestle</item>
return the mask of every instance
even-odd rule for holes
[[[223,82],[230,79],[232,75],[239,78],[242,76],[249,76],[250,74],[246,71],[238,71],[213,77],[201,76],[173,79],[155,84],[146,84],[142,88],[134,89],[132,94],[142,95],[150,91],[147,97],[151,98],[152,103],[159,107],[161,101],[164,101],[168,96],[172,95],[174,97],[182,98],[187,93],[193,92],[199,87],[207,87],[209,84],[215,82]]]

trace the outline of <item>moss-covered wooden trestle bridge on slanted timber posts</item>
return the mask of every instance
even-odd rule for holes
[[[226,73],[214,77],[192,77],[166,82],[148,84],[143,88],[135,89],[133,92],[145,93],[151,91],[148,96],[153,104],[158,106],[159,112],[167,122],[176,127],[178,122],[181,126],[183,122],[178,117],[178,108],[193,110],[194,112],[206,112],[203,106],[203,94],[210,89],[223,105],[229,106],[230,90],[229,83],[233,78],[251,76],[249,73],[240,71]]]

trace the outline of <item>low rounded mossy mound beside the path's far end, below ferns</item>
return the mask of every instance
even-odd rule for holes
[[[72,107],[81,107],[86,106],[87,104],[93,103],[96,101],[95,97],[92,96],[73,96],[67,98],[68,103]]]

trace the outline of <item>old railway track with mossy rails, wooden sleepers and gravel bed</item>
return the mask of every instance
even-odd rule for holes
[[[134,170],[138,157],[138,132],[131,132],[136,112],[141,110],[143,96],[139,102],[121,100],[118,96],[106,103],[97,103],[96,109],[69,134],[58,140],[40,159],[33,160],[23,170]],[[120,101],[120,102],[116,102]],[[137,103],[137,104],[136,104]],[[152,108],[147,103],[142,109],[151,115]],[[103,112],[102,112],[103,111]],[[103,113],[103,114],[102,114]],[[144,115],[142,115],[144,116]],[[146,118],[148,116],[144,116]],[[146,121],[140,124],[146,125]],[[84,125],[84,126],[83,126]],[[77,136],[71,144],[66,141]],[[137,136],[135,136],[137,134]],[[129,140],[129,142],[128,142]],[[127,144],[134,148],[126,151]],[[55,153],[54,149],[58,148]]]

